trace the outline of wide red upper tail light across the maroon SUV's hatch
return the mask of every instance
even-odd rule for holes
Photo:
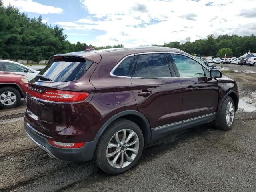
[[[62,91],[62,90],[51,90],[51,89],[48,89],[43,93],[38,93],[29,89],[28,93],[40,99],[49,100],[49,101],[58,101],[58,102],[82,101],[89,96],[89,93],[85,93],[85,92]]]

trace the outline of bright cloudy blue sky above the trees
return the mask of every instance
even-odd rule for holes
[[[139,46],[256,35],[256,0],[3,0],[59,25],[72,43]]]

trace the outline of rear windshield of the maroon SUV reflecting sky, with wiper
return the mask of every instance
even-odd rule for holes
[[[58,57],[50,60],[34,78],[43,82],[65,82],[80,79],[92,65],[92,61],[76,57]]]

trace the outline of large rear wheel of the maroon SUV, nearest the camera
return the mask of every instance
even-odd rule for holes
[[[135,166],[144,146],[142,131],[134,122],[120,118],[106,128],[95,153],[98,167],[110,175]]]

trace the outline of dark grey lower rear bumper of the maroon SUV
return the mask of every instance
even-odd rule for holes
[[[96,142],[86,142],[82,148],[59,148],[50,145],[47,138],[35,131],[26,121],[24,121],[24,129],[30,139],[53,158],[67,161],[90,161],[94,156]]]

